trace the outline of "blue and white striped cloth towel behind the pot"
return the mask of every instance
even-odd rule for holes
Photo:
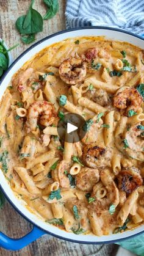
[[[66,26],[118,27],[144,34],[144,0],[67,0]]]

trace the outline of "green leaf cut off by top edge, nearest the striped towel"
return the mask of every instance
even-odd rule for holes
[[[59,10],[59,2],[57,0],[43,0],[43,2],[48,7],[48,10],[45,16],[43,17],[43,20],[48,20],[53,18],[53,16],[56,15],[56,13]]]

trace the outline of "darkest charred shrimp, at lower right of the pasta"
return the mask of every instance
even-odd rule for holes
[[[119,188],[128,194],[142,186],[143,183],[140,170],[134,166],[123,168],[117,178]]]

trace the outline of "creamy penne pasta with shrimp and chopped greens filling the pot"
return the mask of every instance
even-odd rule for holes
[[[37,53],[1,100],[0,165],[13,192],[48,225],[77,235],[143,224],[143,98],[137,46],[77,37]],[[57,131],[68,113],[84,119],[71,142]]]

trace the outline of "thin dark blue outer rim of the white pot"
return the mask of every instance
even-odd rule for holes
[[[1,83],[2,81],[4,80],[5,76],[7,76],[7,74],[9,73],[9,71],[11,70],[11,68],[16,64],[16,62],[18,62],[18,60],[21,59],[21,57],[24,56],[24,54],[26,54],[27,52],[29,52],[31,49],[33,49],[35,46],[39,45],[40,43],[42,42],[45,42],[46,40],[48,40],[49,38],[52,38],[56,35],[60,35],[60,34],[65,34],[67,32],[71,32],[71,31],[79,31],[79,30],[84,30],[84,29],[105,29],[105,30],[110,30],[110,31],[118,31],[118,32],[122,32],[124,34],[128,34],[128,35],[132,35],[133,37],[136,37],[136,38],[140,38],[141,40],[144,41],[144,38],[140,35],[135,35],[134,33],[132,32],[129,32],[129,31],[124,31],[123,29],[117,29],[117,28],[114,28],[114,27],[106,27],[106,26],[85,26],[85,27],[76,27],[74,29],[65,29],[63,31],[59,31],[57,33],[54,33],[52,35],[48,35],[47,37],[39,40],[38,42],[34,43],[34,45],[30,46],[29,48],[27,48],[23,53],[20,54],[20,56],[18,56],[14,61],[13,63],[10,65],[10,67],[5,71],[4,75],[2,75],[2,78],[0,79],[0,86],[1,86]],[[52,235],[56,238],[59,238],[61,240],[65,240],[65,241],[69,241],[69,242],[73,242],[73,243],[79,243],[79,244],[112,244],[112,243],[119,243],[123,240],[128,240],[129,238],[132,238],[134,236],[137,236],[137,235],[140,235],[144,232],[143,231],[140,231],[139,233],[136,233],[134,235],[131,235],[131,236],[128,236],[128,238],[120,238],[120,239],[117,239],[117,240],[110,240],[110,241],[101,241],[101,242],[88,242],[88,241],[77,241],[77,240],[73,240],[73,239],[70,239],[70,238],[64,238],[63,236],[59,236],[59,235],[56,235],[55,233],[51,233],[45,229],[42,229],[39,225],[35,224],[35,222],[31,221],[31,219],[27,218],[23,212],[21,212],[16,206],[15,204],[12,202],[12,200],[7,196],[7,193],[4,191],[4,188],[2,188],[1,184],[0,184],[0,189],[1,191],[4,193],[6,199],[9,201],[10,205],[12,205],[13,208],[15,208],[15,210],[24,218],[26,219],[26,221],[30,222],[31,224],[35,225],[36,227],[38,227],[38,229],[40,230],[43,230],[43,232],[45,232],[46,234],[48,235]],[[121,234],[122,235],[122,234]]]

